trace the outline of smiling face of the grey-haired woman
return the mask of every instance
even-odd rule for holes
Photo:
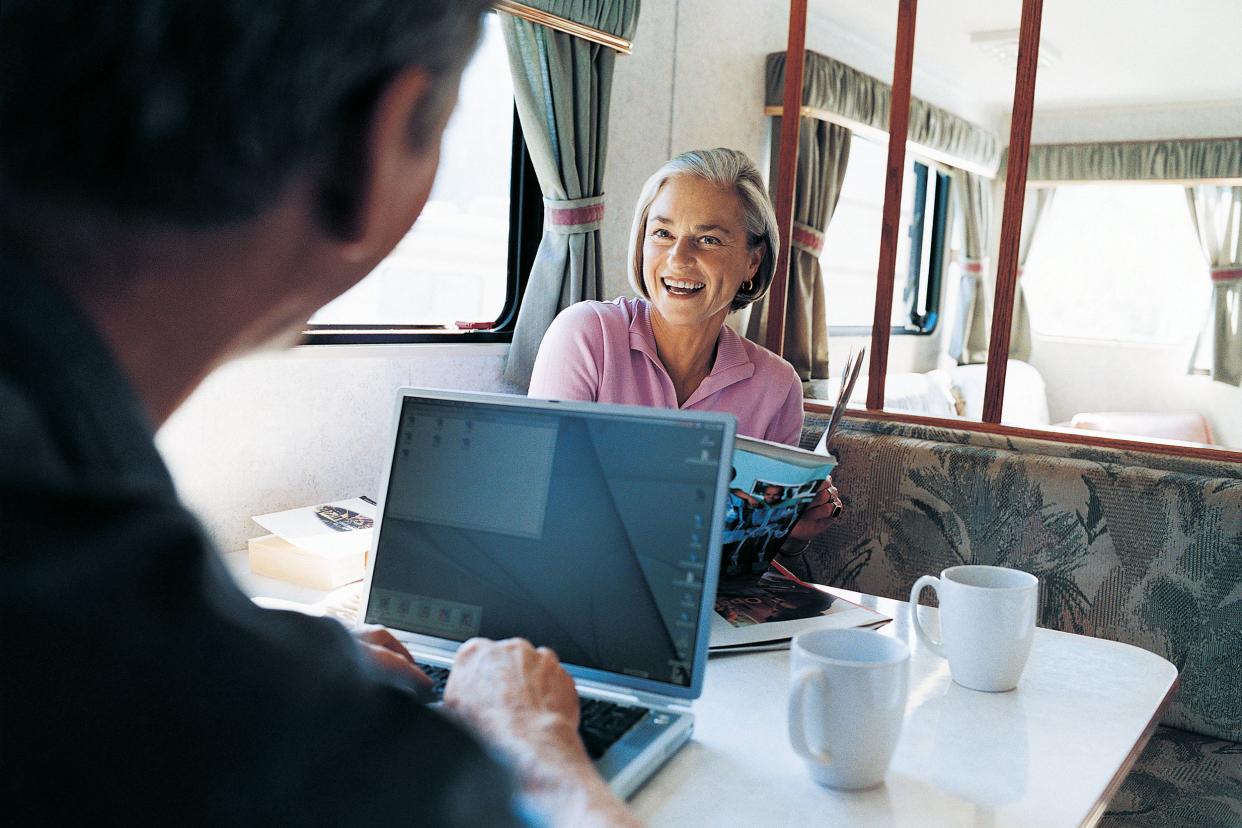
[[[763,245],[749,243],[741,199],[730,187],[674,175],[651,202],[642,283],[655,312],[671,325],[717,330],[763,256]]]

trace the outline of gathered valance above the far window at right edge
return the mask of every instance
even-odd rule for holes
[[[1242,138],[1035,144],[1027,184],[1237,179]]]

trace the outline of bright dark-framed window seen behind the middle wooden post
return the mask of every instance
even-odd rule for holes
[[[871,333],[887,164],[887,145],[853,137],[841,200],[823,235],[820,257],[828,292],[828,329],[835,334]],[[897,248],[894,334],[935,330],[949,209],[949,176],[912,160],[902,185],[907,232]]]

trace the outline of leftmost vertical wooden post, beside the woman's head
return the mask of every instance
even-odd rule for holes
[[[794,112],[802,103],[802,70],[806,66],[806,0],[790,0],[789,41],[785,46],[784,109]],[[797,134],[801,118],[781,118],[780,156],[776,159],[776,232],[780,251],[776,272],[768,292],[765,344],[774,354],[785,353],[785,302],[789,295],[789,263],[794,241],[794,187],[797,185]]]

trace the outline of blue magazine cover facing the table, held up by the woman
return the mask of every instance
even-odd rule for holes
[[[754,583],[768,571],[835,466],[831,456],[738,438],[722,536],[722,586]]]

